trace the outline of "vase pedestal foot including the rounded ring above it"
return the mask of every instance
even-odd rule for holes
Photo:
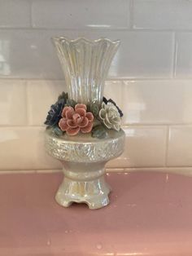
[[[84,166],[85,169],[87,167]],[[87,172],[64,169],[63,173],[63,183],[55,196],[59,205],[68,207],[73,202],[85,203],[89,209],[94,210],[109,204],[111,188],[105,181],[104,169]]]

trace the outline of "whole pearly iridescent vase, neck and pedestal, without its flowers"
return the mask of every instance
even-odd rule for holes
[[[103,102],[108,70],[120,45],[106,38],[87,40],[53,38],[63,68],[68,98],[78,104]],[[109,204],[110,186],[105,180],[107,161],[120,156],[124,149],[124,131],[107,130],[103,139],[90,134],[61,136],[46,130],[46,152],[63,164],[64,179],[55,200],[68,207],[85,203],[89,209]]]

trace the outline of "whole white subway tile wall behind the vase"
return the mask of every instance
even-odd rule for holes
[[[65,90],[50,38],[120,39],[106,96],[124,110],[110,170],[192,170],[192,1],[0,0],[0,170],[57,170],[43,121]]]

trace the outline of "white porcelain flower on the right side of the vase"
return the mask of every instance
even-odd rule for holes
[[[114,104],[103,102],[98,115],[108,129],[120,130],[120,113]]]

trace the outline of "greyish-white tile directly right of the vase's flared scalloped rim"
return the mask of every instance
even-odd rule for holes
[[[123,31],[107,32],[103,36],[121,41],[109,77],[172,76],[172,33]]]

